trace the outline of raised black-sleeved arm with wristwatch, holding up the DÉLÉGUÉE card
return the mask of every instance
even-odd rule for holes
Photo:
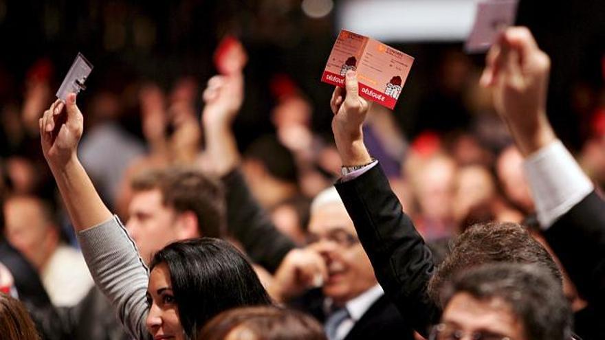
[[[345,167],[364,166],[336,183],[347,212],[386,295],[423,336],[439,321],[440,310],[427,285],[434,273],[428,247],[404,214],[397,196],[364,145],[362,125],[369,102],[358,95],[358,81],[347,72],[346,91],[332,95],[332,130]],[[353,177],[353,178],[352,178]]]

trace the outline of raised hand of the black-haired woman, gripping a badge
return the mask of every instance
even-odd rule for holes
[[[66,112],[63,112],[64,106]],[[61,124],[63,120],[65,123]],[[69,93],[65,104],[56,100],[40,118],[39,127],[42,151],[51,168],[63,168],[68,161],[75,159],[84,131],[84,119],[76,105],[76,94]]]

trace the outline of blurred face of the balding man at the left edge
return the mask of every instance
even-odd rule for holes
[[[5,235],[31,264],[41,270],[56,249],[58,235],[45,220],[35,199],[10,199],[4,204]]]

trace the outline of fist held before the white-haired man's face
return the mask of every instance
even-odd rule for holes
[[[322,286],[327,277],[325,260],[317,251],[308,248],[292,249],[287,253],[274,276],[282,300]]]

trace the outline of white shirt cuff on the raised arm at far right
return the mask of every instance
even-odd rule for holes
[[[529,155],[523,166],[544,230],[594,190],[560,140]]]

